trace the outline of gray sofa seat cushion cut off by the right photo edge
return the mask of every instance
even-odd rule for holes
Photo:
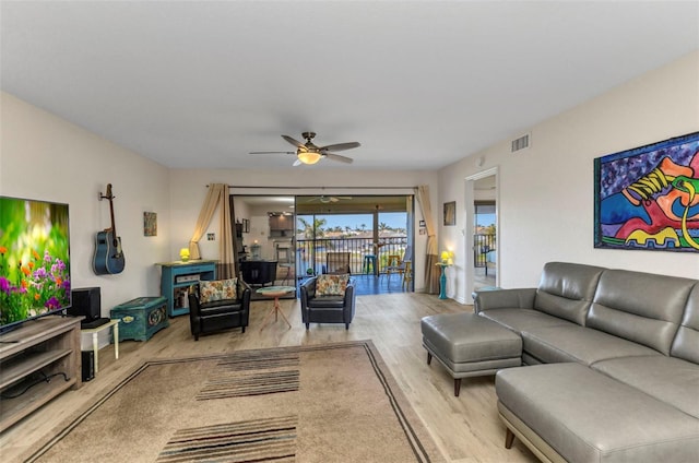
[[[699,365],[697,364],[654,355],[597,361],[592,365],[592,369],[699,418]]]

